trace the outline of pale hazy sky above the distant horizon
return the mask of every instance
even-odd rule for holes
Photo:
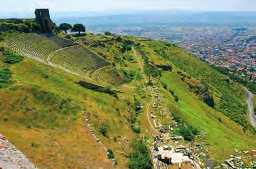
[[[256,11],[256,0],[1,0],[0,14],[34,12],[38,7],[47,7],[51,12],[129,12],[150,9]]]

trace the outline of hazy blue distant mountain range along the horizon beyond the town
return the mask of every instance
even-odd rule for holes
[[[53,16],[54,22],[61,24],[81,22],[89,29],[112,28],[131,25],[200,26],[200,25],[256,25],[256,12],[187,12],[153,11],[133,14],[105,14],[101,16]]]

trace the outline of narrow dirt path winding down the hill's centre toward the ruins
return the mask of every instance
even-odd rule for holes
[[[141,60],[140,60],[140,58],[139,58],[139,56],[137,55],[137,52],[136,52],[136,50],[134,49],[134,47],[132,47],[132,52],[134,53],[134,57],[136,58],[136,60],[137,60],[137,62],[138,62],[138,64],[139,64],[139,67],[140,67],[140,71],[141,71],[141,73],[142,73],[142,76],[143,76],[143,79],[144,79],[144,81],[145,81],[145,83],[147,83],[147,78],[145,77],[145,75],[144,75],[144,70],[143,70],[143,66],[142,66],[142,64],[143,63],[141,63]],[[150,102],[147,104],[147,121],[149,121],[149,125],[150,125],[150,127],[151,127],[151,129],[152,130],[155,130],[155,127],[152,125],[152,122],[150,121],[150,106],[152,105],[152,103],[154,102],[154,94],[153,94],[153,92],[152,92],[152,88],[147,88],[147,86],[145,86],[144,85],[144,88],[145,89],[149,89],[150,90],[150,93],[151,93],[151,99],[150,99]],[[155,130],[156,132],[158,132],[157,130]]]

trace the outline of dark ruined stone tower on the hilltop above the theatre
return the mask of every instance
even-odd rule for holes
[[[41,25],[42,32],[48,33],[51,30],[51,18],[49,14],[49,9],[36,9],[36,22]]]

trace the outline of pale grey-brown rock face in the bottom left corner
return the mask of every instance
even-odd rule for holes
[[[1,169],[34,169],[30,160],[0,134],[0,168]]]

